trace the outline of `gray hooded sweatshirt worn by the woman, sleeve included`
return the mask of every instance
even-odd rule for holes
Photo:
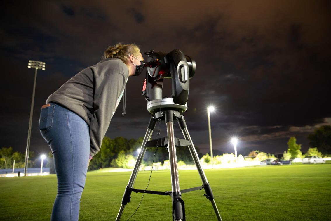
[[[100,150],[128,77],[120,59],[107,58],[82,70],[47,98],[46,103],[59,103],[84,119],[90,129],[91,156]]]

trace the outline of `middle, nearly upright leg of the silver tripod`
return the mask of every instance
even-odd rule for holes
[[[185,220],[184,201],[181,198],[178,179],[175,135],[173,131],[173,111],[166,111],[166,129],[168,135],[169,162],[172,189],[172,215],[176,221]]]

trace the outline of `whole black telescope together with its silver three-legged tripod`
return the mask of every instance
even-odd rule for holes
[[[190,78],[194,76],[197,65],[191,57],[185,55],[178,49],[174,49],[167,54],[164,52],[154,52],[153,49],[152,51],[145,52],[145,54],[148,55],[148,58],[147,62],[144,62],[147,71],[142,94],[145,95],[147,100],[147,110],[152,116],[148,123],[136,164],[125,188],[116,221],[120,221],[125,205],[131,200],[132,192],[170,196],[172,199],[172,219],[175,221],[185,221],[185,205],[184,200],[182,199],[182,193],[202,189],[205,190],[204,196],[206,196],[213,205],[217,220],[222,221],[214,200],[212,188],[202,169],[199,155],[194,147],[182,114],[187,110]],[[169,97],[163,97],[162,95],[164,79],[171,79],[172,93]],[[159,138],[159,131],[158,138],[151,140],[157,121],[166,122],[167,137]],[[175,137],[173,124],[176,121],[182,130],[184,139]],[[163,192],[147,190],[147,188],[145,190],[133,188],[140,165],[148,147],[166,147],[168,150],[171,191]],[[201,186],[184,190],[179,188],[176,148],[189,149],[202,181]]]

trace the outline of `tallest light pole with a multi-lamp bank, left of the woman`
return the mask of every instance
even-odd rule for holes
[[[33,113],[33,104],[34,104],[34,92],[36,89],[36,81],[37,81],[37,70],[45,70],[45,62],[41,61],[31,61],[27,65],[28,68],[36,69],[34,73],[34,83],[33,83],[33,92],[32,92],[32,101],[31,101],[31,110],[30,110],[30,120],[29,120],[29,130],[27,132],[27,141],[26,141],[26,151],[25,151],[25,163],[24,163],[24,176],[26,176],[27,172],[27,162],[29,160],[29,149],[30,149],[30,138],[31,138],[31,126],[32,126],[32,113]]]

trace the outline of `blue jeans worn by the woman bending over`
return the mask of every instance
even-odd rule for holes
[[[57,103],[41,109],[39,130],[51,147],[58,193],[51,220],[78,220],[79,203],[84,189],[90,136],[87,123]]]

